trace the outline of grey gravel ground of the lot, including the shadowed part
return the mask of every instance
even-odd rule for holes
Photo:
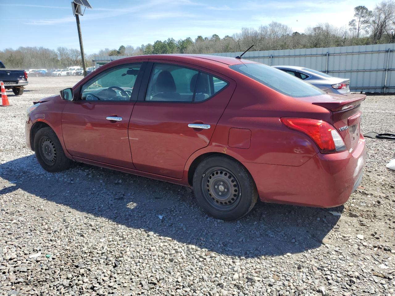
[[[395,142],[367,138],[361,186],[329,209],[258,203],[205,215],[190,190],[84,164],[50,174],[26,109],[78,77],[32,77],[0,108],[0,295],[395,295]],[[368,96],[362,132],[394,132]]]

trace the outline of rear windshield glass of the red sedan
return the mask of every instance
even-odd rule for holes
[[[312,97],[325,94],[315,86],[265,64],[248,63],[229,67],[290,97]]]

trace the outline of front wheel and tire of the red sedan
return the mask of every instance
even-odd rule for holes
[[[70,167],[71,160],[64,154],[62,145],[51,127],[38,130],[34,136],[34,152],[38,163],[47,172],[60,172]]]

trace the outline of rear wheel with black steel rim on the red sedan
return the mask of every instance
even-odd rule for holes
[[[246,215],[258,200],[258,191],[243,165],[222,156],[204,159],[193,178],[198,204],[211,216],[236,220]]]

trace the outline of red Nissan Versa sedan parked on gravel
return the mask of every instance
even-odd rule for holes
[[[35,103],[26,141],[49,172],[74,160],[193,186],[204,210],[231,220],[258,197],[346,202],[362,178],[364,99],[237,58],[134,56]]]

